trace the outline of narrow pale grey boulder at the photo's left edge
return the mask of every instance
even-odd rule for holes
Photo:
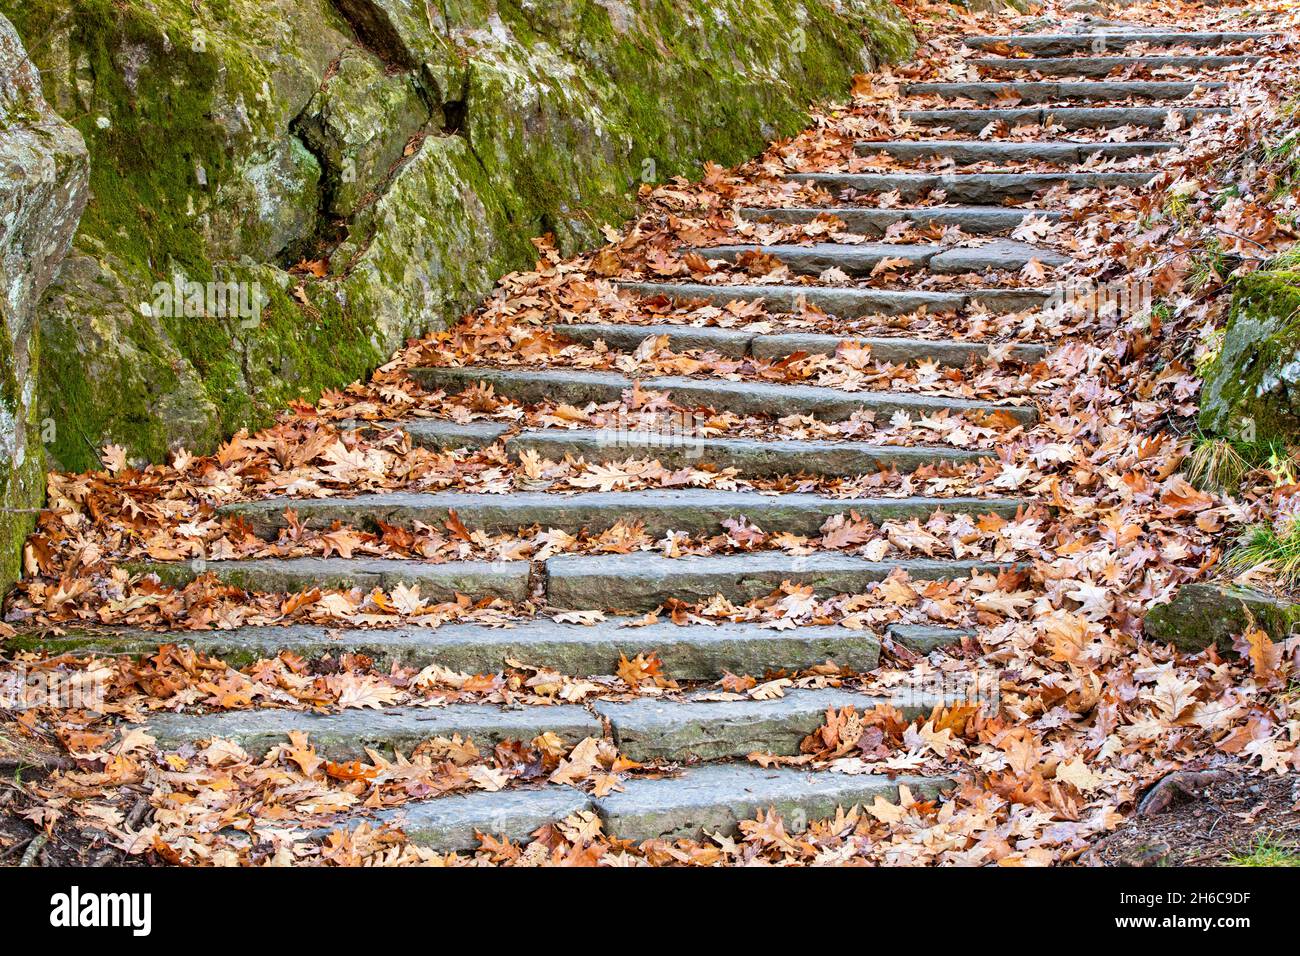
[[[36,307],[88,195],[86,144],[42,98],[40,74],[0,17],[0,593],[46,484]]]

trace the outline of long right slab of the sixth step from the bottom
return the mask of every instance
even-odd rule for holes
[[[560,460],[564,455],[588,462],[654,458],[664,467],[714,466],[736,468],[746,477],[805,475],[838,477],[871,475],[881,468],[915,471],[923,464],[966,464],[992,451],[966,451],[946,446],[870,445],[857,441],[766,441],[763,438],[696,438],[645,432],[546,428],[523,432],[506,447],[512,454],[529,449]]]

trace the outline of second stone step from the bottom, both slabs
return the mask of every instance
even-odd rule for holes
[[[758,675],[762,676],[762,675]],[[554,734],[567,745],[604,736],[604,724],[619,752],[634,761],[697,762],[745,757],[754,752],[794,756],[803,737],[826,722],[828,709],[855,708],[858,713],[893,706],[911,721],[936,706],[958,702],[933,695],[868,696],[858,691],[792,689],[772,700],[707,700],[710,693],[686,700],[644,697],[629,702],[594,701],[590,709],[575,704],[504,708],[493,704],[395,706],[312,713],[260,708],[212,714],[151,714],[144,731],[161,749],[229,740],[255,760],[287,741],[292,731],[306,732],[317,754],[332,761],[364,760],[368,749],[410,756],[432,737],[459,735],[481,753],[497,744],[529,743]]]

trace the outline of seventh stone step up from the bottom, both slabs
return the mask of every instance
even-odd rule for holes
[[[589,402],[618,402],[633,381],[616,372],[590,372],[571,368],[412,368],[411,376],[426,388],[458,393],[478,382],[493,386],[495,394],[524,405],[564,402],[584,406]],[[926,394],[890,392],[842,392],[816,385],[770,385],[760,381],[728,381],[725,378],[688,378],[655,376],[638,380],[642,389],[667,392],[670,399],[689,407],[711,407],[737,415],[815,415],[824,421],[840,421],[858,411],[872,411],[889,418],[894,412],[928,415],[939,411],[1001,411],[1017,421],[1037,420],[1037,411],[1028,405],[998,405],[978,399],[944,398]]]

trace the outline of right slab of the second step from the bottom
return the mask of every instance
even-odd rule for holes
[[[760,674],[754,675],[762,678]],[[608,718],[619,753],[637,761],[675,762],[745,757],[754,752],[793,756],[803,737],[826,723],[827,709],[859,713],[893,704],[909,719],[928,714],[940,700],[872,697],[857,691],[789,691],[775,700],[671,701],[645,697],[627,704],[597,702]]]

